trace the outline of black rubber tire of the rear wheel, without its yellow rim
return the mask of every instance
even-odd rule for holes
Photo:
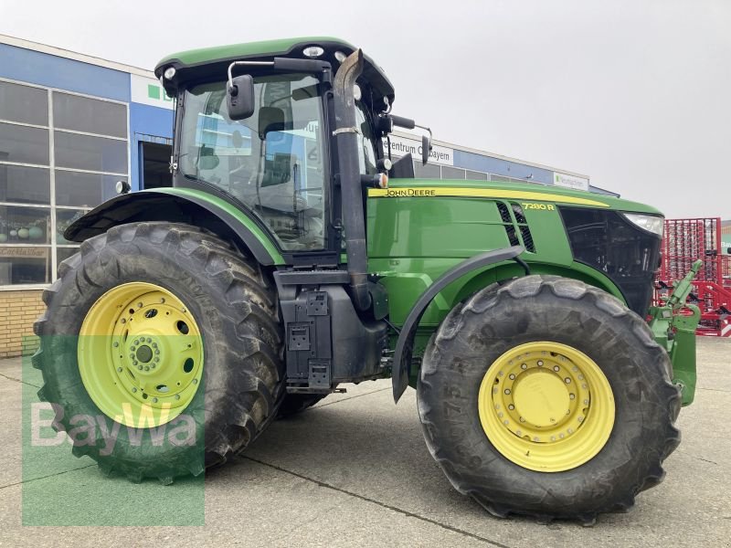
[[[86,240],[58,266],[57,281],[43,292],[47,311],[35,324],[40,347],[33,364],[44,380],[38,396],[63,410],[62,416],[57,411],[57,429],[69,432],[74,416],[104,416],[81,380],[77,337],[90,307],[128,282],[170,291],[196,319],[205,390],[198,389],[185,408],[195,421],[195,443],[158,446],[146,442],[153,433],[143,429],[142,443],[135,444],[129,437],[134,428],[120,427],[105,454],[96,428],[73,453],[132,481],[197,476],[249,446],[277,415],[285,371],[276,292],[253,258],[197,227],[132,223]]]

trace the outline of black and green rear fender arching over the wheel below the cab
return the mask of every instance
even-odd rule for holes
[[[283,265],[279,249],[246,212],[206,192],[188,188],[156,188],[119,195],[74,221],[64,232],[81,242],[111,227],[142,221],[183,222],[237,239],[261,265]]]

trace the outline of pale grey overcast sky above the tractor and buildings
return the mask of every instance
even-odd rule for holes
[[[181,49],[342,37],[436,139],[588,174],[667,216],[731,219],[728,0],[0,0],[0,33],[143,68]]]

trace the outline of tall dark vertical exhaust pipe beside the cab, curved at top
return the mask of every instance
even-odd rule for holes
[[[335,126],[338,172],[343,199],[343,225],[348,257],[350,290],[355,308],[366,311],[371,306],[368,292],[367,251],[363,194],[358,163],[355,125],[355,80],[363,72],[363,52],[356,49],[340,65],[334,78]]]

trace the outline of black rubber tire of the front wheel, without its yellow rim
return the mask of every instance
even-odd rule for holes
[[[606,444],[566,471],[534,471],[503,457],[478,414],[482,379],[495,360],[542,341],[585,353],[614,397]],[[620,300],[575,279],[526,276],[493,284],[450,311],[423,358],[418,413],[452,485],[493,515],[590,524],[599,513],[628,510],[637,493],[662,480],[662,461],[680,443],[674,421],[681,397],[671,371],[645,321]]]

